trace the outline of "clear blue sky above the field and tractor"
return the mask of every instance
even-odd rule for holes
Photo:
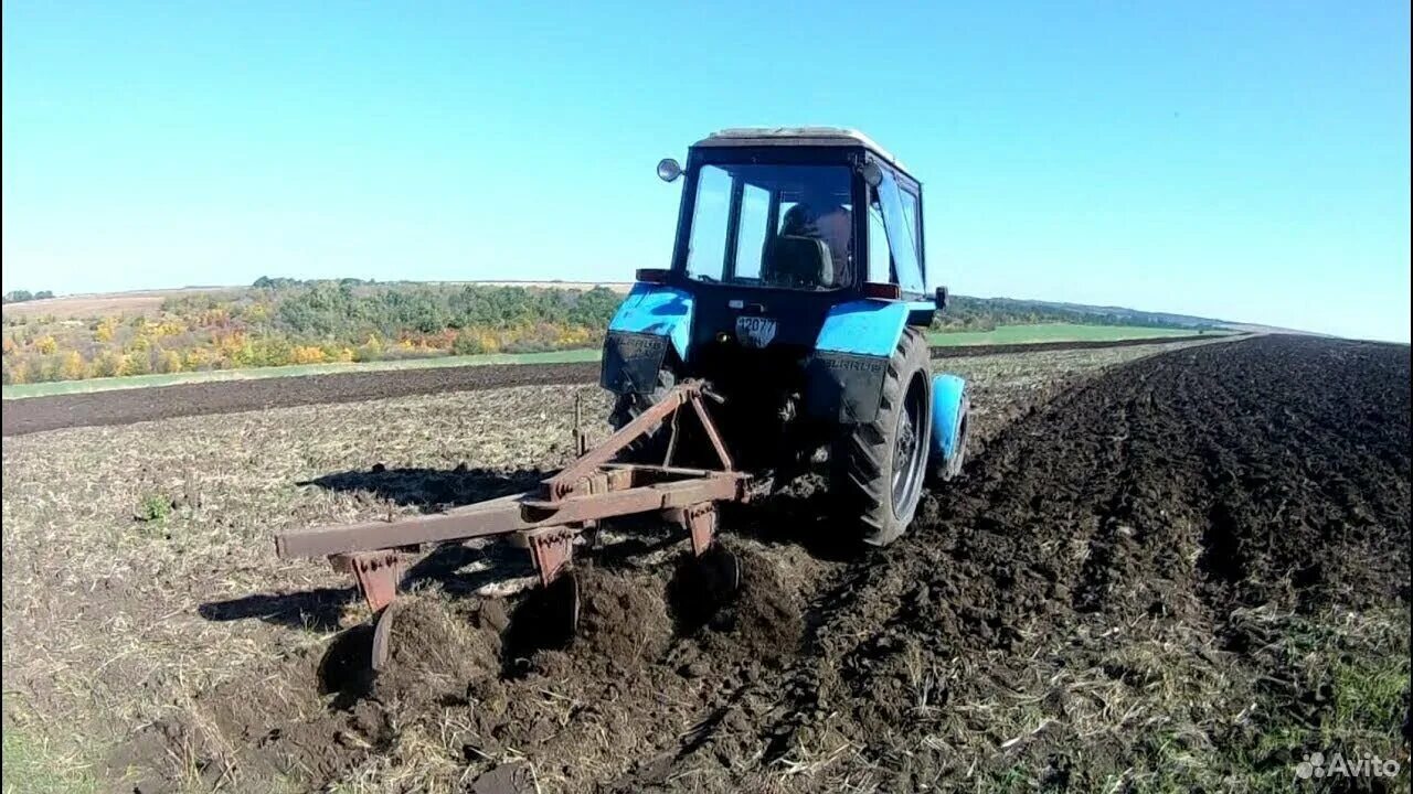
[[[658,158],[836,124],[957,292],[1409,339],[1407,3],[510,6],[6,0],[6,288],[629,280]]]

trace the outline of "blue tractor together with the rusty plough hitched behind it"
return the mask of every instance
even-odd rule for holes
[[[923,188],[897,158],[849,130],[725,130],[685,170],[657,171],[685,177],[677,244],[671,267],[637,271],[609,325],[613,435],[591,449],[575,421],[578,458],[526,493],[276,535],[280,557],[326,557],[353,576],[376,616],[373,671],[389,661],[403,571],[430,548],[512,538],[538,572],[526,603],[568,641],[575,550],[602,521],[654,514],[687,530],[684,571],[715,603],[740,585],[719,503],[780,487],[825,452],[841,524],[883,545],[930,478],[961,470],[966,384],[928,366],[923,331],[947,291],[926,288]]]

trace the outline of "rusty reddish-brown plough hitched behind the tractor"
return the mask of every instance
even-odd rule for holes
[[[574,545],[581,533],[606,519],[661,514],[687,530],[691,551],[711,572],[714,589],[735,591],[740,568],[716,541],[716,503],[745,502],[750,476],[733,469],[705,400],[721,398],[699,380],[684,381],[593,449],[585,448],[586,435],[575,422],[579,458],[536,490],[431,516],[290,530],[276,535],[276,554],[285,559],[326,557],[335,569],[352,575],[374,613],[374,671],[387,665],[393,603],[407,562],[427,545],[516,535],[517,545],[530,552],[540,586],[561,605],[552,613],[562,616],[567,622],[562,629],[571,634],[579,616]],[[673,466],[680,431],[675,414],[688,405],[711,444],[716,469]],[[660,465],[615,461],[658,425],[670,428],[667,455]]]

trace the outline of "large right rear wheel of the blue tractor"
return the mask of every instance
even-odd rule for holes
[[[893,543],[917,513],[933,432],[930,359],[921,332],[904,329],[887,363],[877,415],[842,425],[829,449],[829,490],[863,543]]]

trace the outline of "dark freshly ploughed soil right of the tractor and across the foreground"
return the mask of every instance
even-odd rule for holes
[[[326,651],[294,654],[113,769],[143,793],[1283,790],[1355,719],[1406,788],[1406,667],[1368,715],[1341,692],[1359,616],[1406,626],[1409,379],[1407,348],[1306,338],[1142,359],[1005,427],[886,550],[831,541],[808,483],[731,511],[743,589],[705,622],[633,555],[593,561],[564,647],[432,591],[374,682],[321,698]],[[1348,629],[1328,667],[1290,644],[1306,622]]]

